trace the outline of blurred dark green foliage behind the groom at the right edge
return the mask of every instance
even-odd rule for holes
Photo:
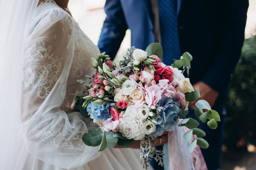
[[[224,144],[256,144],[256,36],[245,39],[227,102]]]

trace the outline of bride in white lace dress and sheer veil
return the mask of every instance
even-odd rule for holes
[[[95,125],[72,112],[70,94],[94,74],[99,49],[57,3],[68,0],[0,0],[0,169],[142,169],[140,141],[103,152],[82,142]]]

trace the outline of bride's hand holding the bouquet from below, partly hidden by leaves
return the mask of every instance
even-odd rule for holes
[[[154,139],[156,140],[156,143],[154,144],[155,147],[161,144],[166,144],[168,143],[168,132],[164,132],[161,136],[157,136]],[[115,148],[121,149],[123,147],[120,147],[118,144],[116,144]],[[140,149],[140,141],[134,141],[134,143],[129,148]]]

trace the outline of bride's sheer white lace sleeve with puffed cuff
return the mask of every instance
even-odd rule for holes
[[[65,169],[78,167],[99,152],[81,140],[87,131],[81,115],[60,109],[75,51],[74,21],[54,8],[33,22],[37,24],[27,40],[23,69],[21,127],[26,147],[42,161]]]

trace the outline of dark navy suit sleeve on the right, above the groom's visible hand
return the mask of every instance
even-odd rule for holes
[[[203,78],[215,91],[221,92],[230,82],[230,74],[241,56],[248,6],[248,0],[228,0],[223,6],[221,45],[217,49],[220,52]]]

